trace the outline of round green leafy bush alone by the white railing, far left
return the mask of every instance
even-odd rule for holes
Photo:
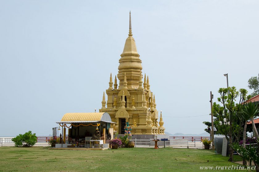
[[[31,131],[28,131],[23,135],[19,134],[18,136],[13,138],[12,141],[14,142],[14,145],[16,147],[20,147],[20,146],[30,147],[35,145],[35,143],[37,142],[37,136],[35,133],[32,134]]]

